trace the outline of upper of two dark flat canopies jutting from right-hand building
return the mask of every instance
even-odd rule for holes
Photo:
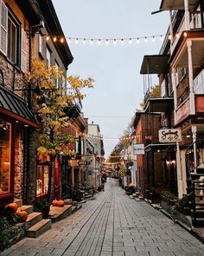
[[[169,55],[143,56],[140,74],[163,74],[169,67]]]

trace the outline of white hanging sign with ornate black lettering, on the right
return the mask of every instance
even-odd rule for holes
[[[159,130],[160,142],[179,142],[182,141],[181,129],[160,129]]]

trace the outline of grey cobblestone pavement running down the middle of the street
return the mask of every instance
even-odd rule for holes
[[[204,245],[145,201],[131,200],[109,180],[89,200],[37,239],[25,238],[1,255],[195,256]]]

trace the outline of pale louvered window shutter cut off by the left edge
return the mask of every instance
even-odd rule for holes
[[[7,55],[7,28],[8,28],[8,9],[3,3],[3,1],[0,2],[1,4],[1,33],[0,33],[0,50],[3,52],[3,54]]]

